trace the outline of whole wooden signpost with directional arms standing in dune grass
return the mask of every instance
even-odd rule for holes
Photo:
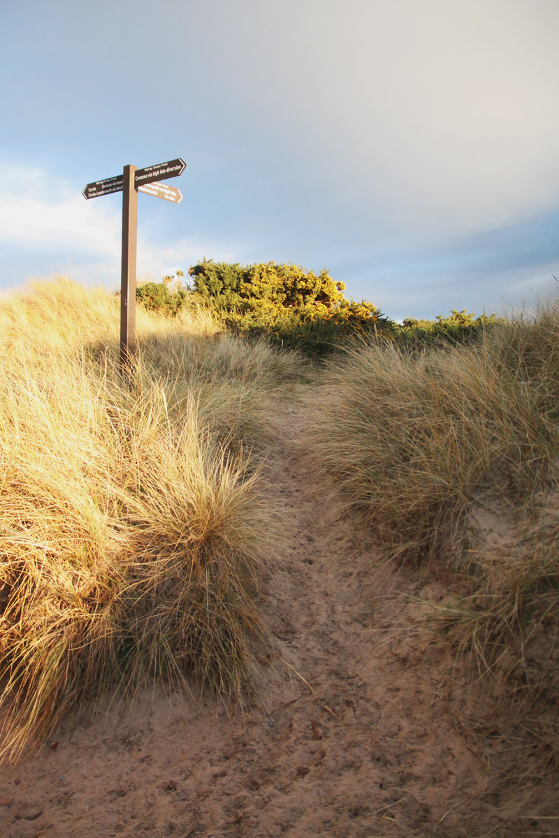
[[[180,204],[183,196],[179,189],[160,184],[163,178],[178,178],[186,163],[181,158],[158,163],[156,166],[137,168],[125,166],[122,174],[114,178],[96,180],[86,184],[82,195],[86,199],[99,198],[122,192],[122,268],[121,268],[121,351],[122,370],[130,366],[136,351],[136,252],[137,252],[137,193],[143,192]]]

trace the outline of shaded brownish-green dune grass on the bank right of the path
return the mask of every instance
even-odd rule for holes
[[[349,505],[395,559],[453,569],[473,674],[556,701],[559,303],[469,347],[355,349],[325,381],[313,447]]]

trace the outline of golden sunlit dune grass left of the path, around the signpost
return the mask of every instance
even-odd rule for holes
[[[116,297],[59,279],[0,304],[8,757],[148,678],[194,673],[239,698],[265,639],[254,592],[273,513],[250,449],[299,362],[232,341],[203,311],[137,321],[122,380]]]

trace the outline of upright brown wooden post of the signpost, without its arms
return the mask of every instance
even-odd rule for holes
[[[121,370],[136,351],[137,166],[125,166],[122,184]]]

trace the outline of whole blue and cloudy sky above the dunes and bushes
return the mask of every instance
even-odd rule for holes
[[[530,302],[559,277],[556,0],[3,0],[0,288],[116,288],[206,256],[329,268],[393,318]]]

